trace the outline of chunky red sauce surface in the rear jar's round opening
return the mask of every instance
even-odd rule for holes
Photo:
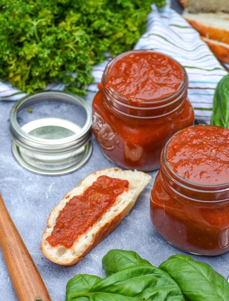
[[[143,101],[166,98],[175,93],[184,75],[172,58],[156,52],[135,52],[120,57],[108,69],[107,87]]]

